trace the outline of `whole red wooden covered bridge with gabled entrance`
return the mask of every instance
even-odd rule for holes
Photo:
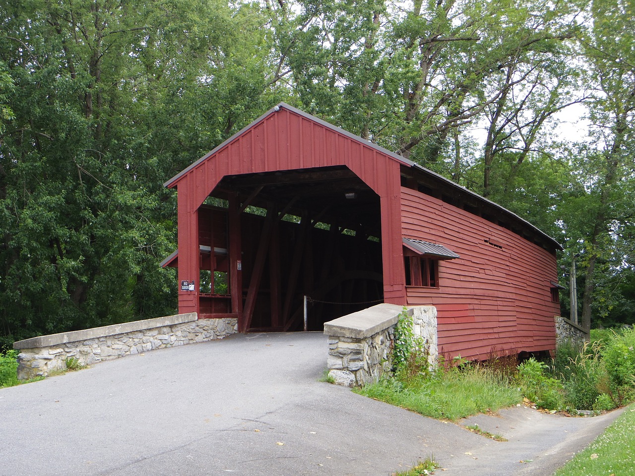
[[[284,103],[166,182],[179,312],[309,329],[378,302],[434,305],[439,350],[556,347],[556,249],[527,221]]]

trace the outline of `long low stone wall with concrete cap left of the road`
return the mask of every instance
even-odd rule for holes
[[[149,350],[222,339],[237,333],[237,319],[197,319],[195,312],[124,322],[17,341],[18,379],[67,369],[67,359],[85,366]]]

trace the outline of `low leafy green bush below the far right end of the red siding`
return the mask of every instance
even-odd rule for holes
[[[516,381],[523,395],[536,406],[560,410],[565,406],[561,381],[548,375],[549,366],[531,357],[518,366]]]

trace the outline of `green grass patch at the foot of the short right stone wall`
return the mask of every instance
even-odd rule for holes
[[[432,378],[404,384],[394,378],[358,388],[355,392],[425,416],[457,421],[477,413],[497,411],[522,400],[518,388],[504,376],[476,366],[439,370]]]

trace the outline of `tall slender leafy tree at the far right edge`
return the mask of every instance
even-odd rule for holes
[[[622,230],[632,221],[635,190],[635,55],[634,12],[629,1],[592,1],[592,27],[584,48],[594,86],[589,117],[592,142],[583,151],[589,191],[585,206],[585,284],[582,294],[582,326],[591,326],[592,303],[598,284],[598,267],[610,263],[616,269],[632,266],[624,255],[613,254],[617,243],[630,237]],[[631,246],[632,249],[632,246]],[[612,262],[612,263],[611,263]]]

